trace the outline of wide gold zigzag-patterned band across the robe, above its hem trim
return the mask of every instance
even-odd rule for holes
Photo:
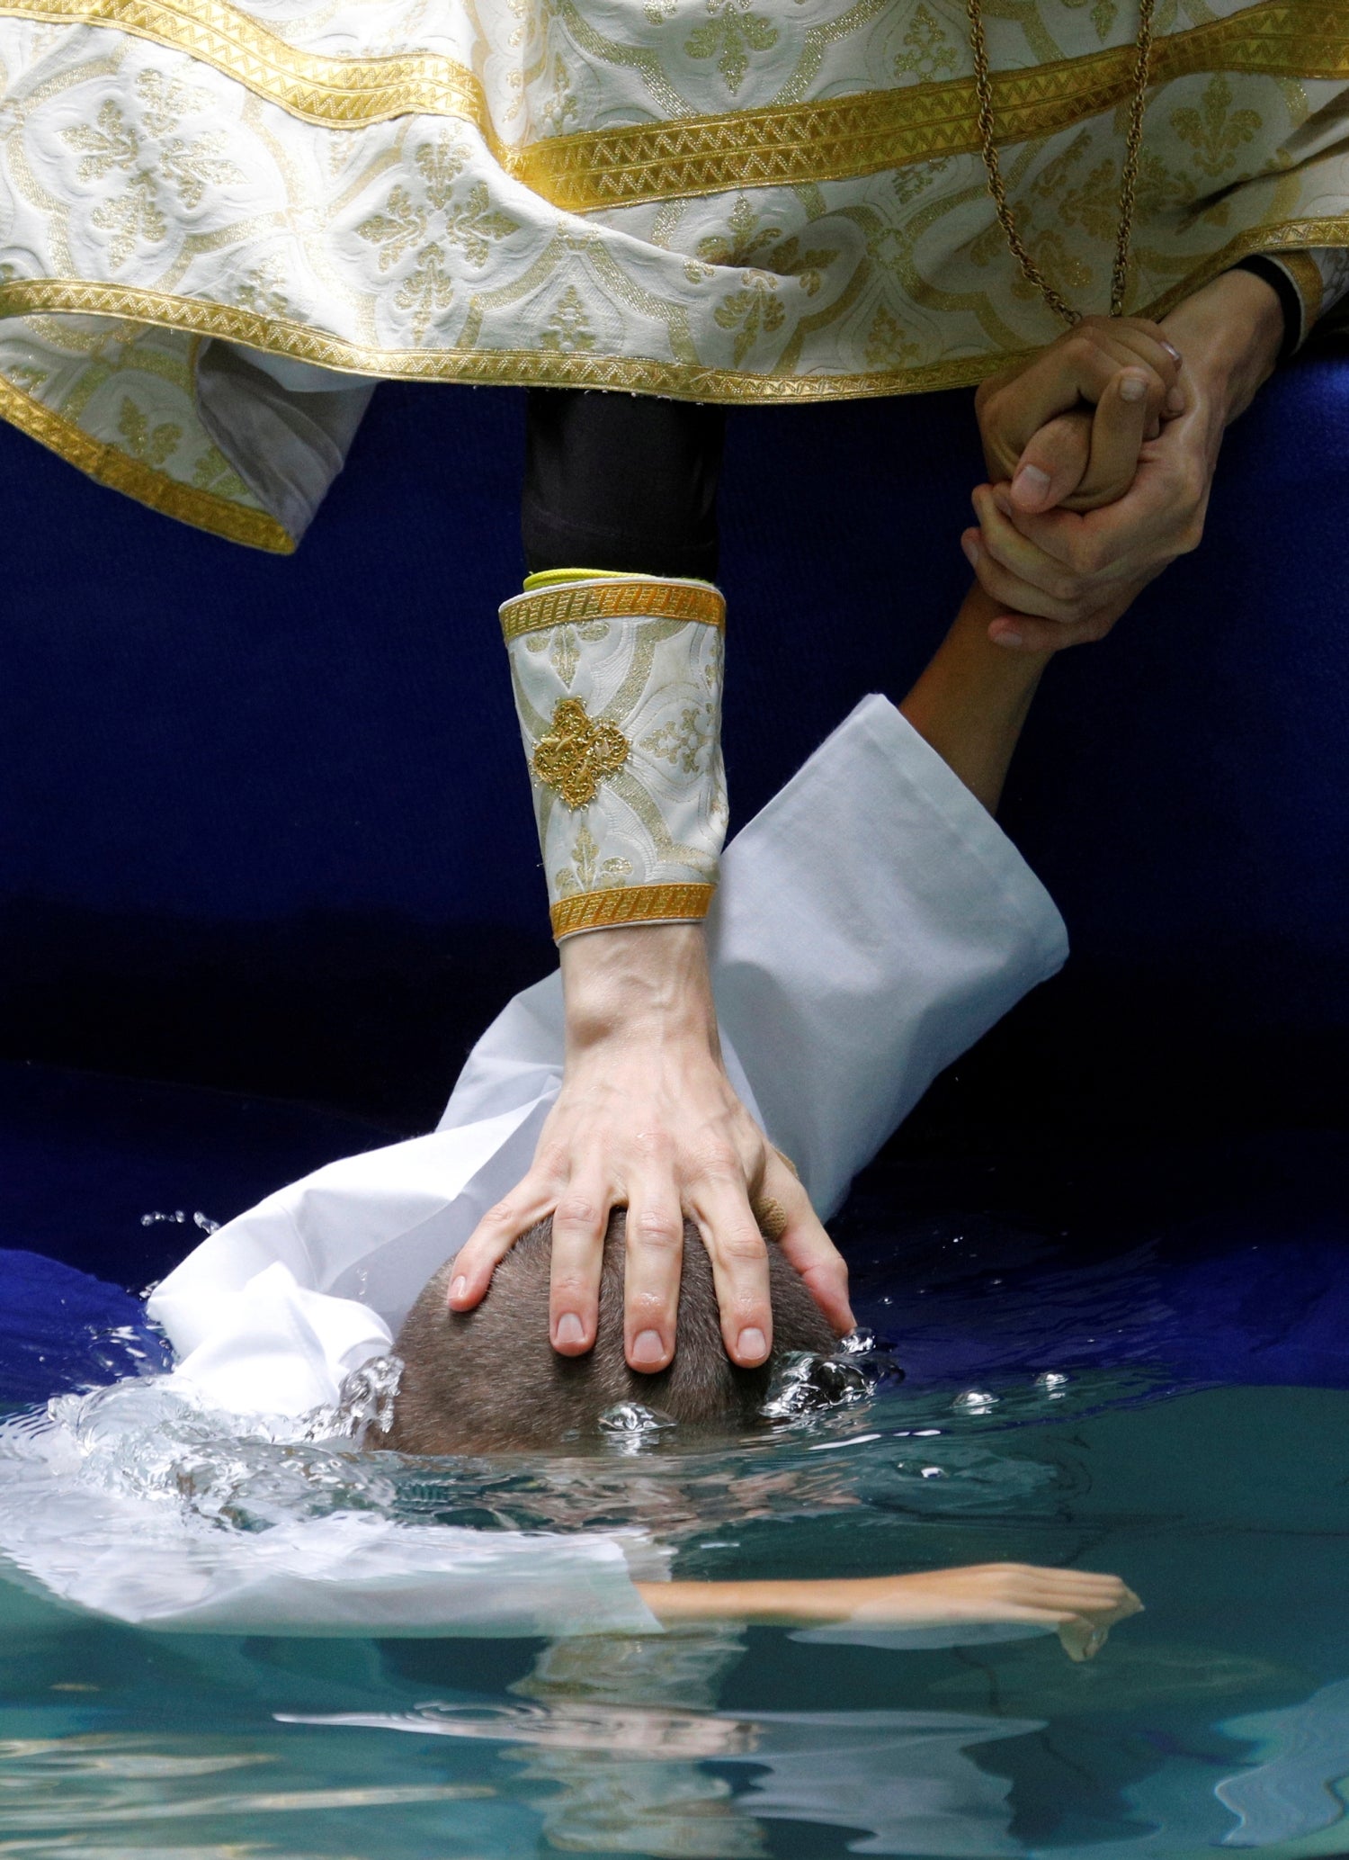
[[[979,147],[972,78],[823,102],[582,130],[511,145],[478,76],[452,58],[329,58],[288,45],[229,0],[0,0],[0,15],[93,24],[186,52],[305,123],[360,128],[401,115],[474,125],[500,166],[567,212],[805,186]],[[1349,78],[1343,0],[1258,0],[1156,41],[1154,84],[1198,71]],[[996,141],[1029,141],[1100,115],[1130,91],[1133,48],[994,76]]]

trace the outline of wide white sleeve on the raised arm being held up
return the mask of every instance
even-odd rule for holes
[[[712,915],[723,1040],[823,1216],[1067,954],[992,815],[892,703],[864,699],[728,848]]]

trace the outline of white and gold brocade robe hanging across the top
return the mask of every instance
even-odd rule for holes
[[[1104,309],[1135,0],[985,17],[1018,223]],[[1314,318],[1349,4],[1159,0],[1156,33],[1128,309],[1269,251]],[[963,0],[0,0],[0,413],[284,551],[362,398],[249,353],[727,402],[976,381],[1059,326],[970,71]]]

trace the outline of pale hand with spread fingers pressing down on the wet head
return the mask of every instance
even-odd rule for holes
[[[474,1229],[450,1304],[472,1309],[492,1269],[552,1216],[554,1348],[595,1343],[604,1231],[628,1209],[626,1358],[674,1354],[684,1218],[712,1259],[727,1354],[762,1363],[773,1345],[764,1235],[838,1334],[853,1328],[847,1269],[792,1168],[740,1103],[721,1062],[701,924],[598,930],[561,945],[567,1064],[524,1181]]]

